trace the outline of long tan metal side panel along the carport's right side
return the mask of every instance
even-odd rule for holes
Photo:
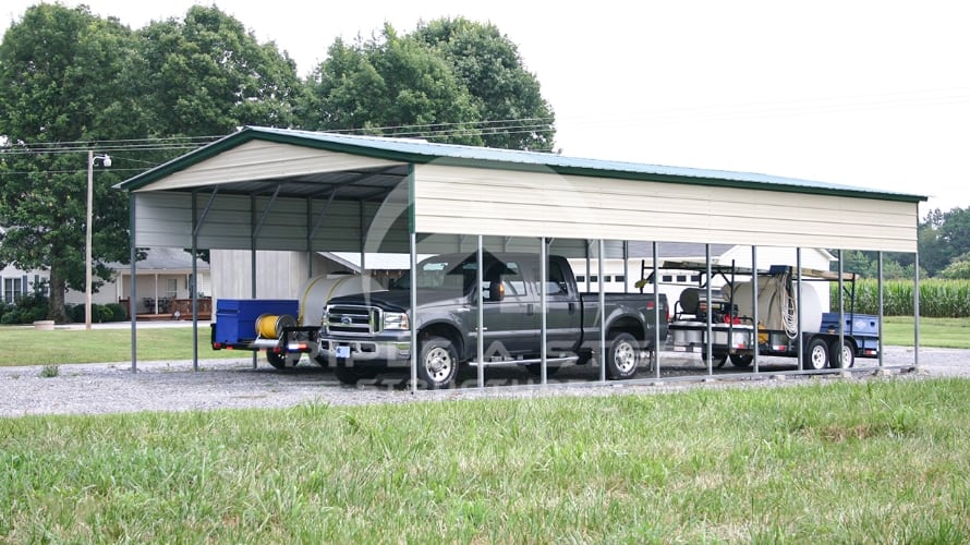
[[[914,203],[438,165],[415,180],[417,232],[917,247]]]

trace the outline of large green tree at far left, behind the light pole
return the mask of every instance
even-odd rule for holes
[[[48,317],[63,322],[68,287],[85,284],[87,146],[126,138],[138,123],[126,89],[133,75],[132,32],[85,7],[38,4],[0,44],[0,263],[49,269]],[[105,149],[98,149],[104,152]],[[120,174],[94,184],[93,254],[128,258],[126,199],[110,190]]]

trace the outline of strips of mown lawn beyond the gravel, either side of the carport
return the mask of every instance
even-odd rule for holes
[[[913,320],[887,317],[885,343],[913,346]],[[251,352],[219,350],[209,344],[209,329],[198,332],[198,356],[251,358]],[[970,318],[920,318],[920,346],[970,349]],[[131,329],[56,329],[0,327],[0,346],[19,347],[0,358],[0,365],[131,362]],[[260,355],[262,358],[262,355]],[[192,328],[140,328],[138,360],[191,360]]]

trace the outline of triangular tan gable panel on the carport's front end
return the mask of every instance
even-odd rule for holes
[[[398,165],[384,159],[254,141],[226,150],[148,184],[140,192],[207,186],[250,180],[272,180],[318,172]]]

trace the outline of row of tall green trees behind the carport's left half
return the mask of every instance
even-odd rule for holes
[[[111,185],[244,125],[551,150],[555,116],[516,44],[465,19],[385,24],[336,39],[301,77],[275,43],[216,7],[132,29],[41,3],[0,44],[0,268],[49,270],[48,317],[85,284],[87,153],[93,255],[129,262],[128,198]],[[101,280],[96,281],[96,287]]]

